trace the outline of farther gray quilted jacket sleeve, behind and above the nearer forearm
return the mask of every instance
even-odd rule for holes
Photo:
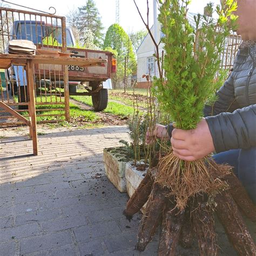
[[[233,84],[233,72],[228,77],[226,82],[217,91],[217,100],[212,105],[205,105],[204,116],[216,116],[223,112],[233,112],[238,109],[238,105],[235,102],[234,96],[234,84]]]

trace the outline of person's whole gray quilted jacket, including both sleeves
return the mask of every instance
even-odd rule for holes
[[[218,100],[205,106],[206,122],[217,153],[256,146],[255,57],[250,48],[239,50],[230,77],[217,92]],[[171,134],[172,125],[167,129]]]

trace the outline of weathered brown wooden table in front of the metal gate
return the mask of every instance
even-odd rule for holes
[[[0,107],[11,113],[16,118],[30,127],[30,139],[33,143],[33,154],[38,155],[37,145],[37,124],[36,124],[36,103],[34,92],[34,65],[33,64],[53,64],[53,65],[76,65],[76,66],[101,66],[106,64],[106,59],[92,58],[72,58],[56,57],[43,55],[18,55],[18,54],[0,54],[0,69],[8,69],[11,65],[24,66],[26,70],[26,79],[29,92],[29,120],[23,117],[14,109],[11,109],[4,102],[0,101]],[[67,70],[67,69],[66,69]]]

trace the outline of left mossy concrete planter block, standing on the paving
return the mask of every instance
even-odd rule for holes
[[[127,159],[123,152],[124,149],[125,147],[111,147],[103,151],[106,176],[120,192],[126,192],[125,165]]]

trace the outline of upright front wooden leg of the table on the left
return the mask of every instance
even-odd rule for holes
[[[36,103],[35,103],[33,71],[34,71],[34,66],[33,66],[32,60],[28,60],[28,64],[26,65],[26,73],[27,73],[28,90],[29,90],[29,116],[31,119],[31,125],[29,130],[30,130],[30,137],[32,137],[33,154],[37,156],[38,145],[37,145]]]

